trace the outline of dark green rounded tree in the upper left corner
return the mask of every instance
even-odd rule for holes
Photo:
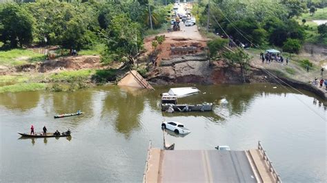
[[[10,48],[16,48],[19,44],[30,44],[33,40],[34,18],[30,12],[17,3],[5,3],[0,8],[0,41]]]

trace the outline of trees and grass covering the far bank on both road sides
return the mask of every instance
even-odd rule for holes
[[[327,19],[327,3],[319,0],[303,2],[296,4],[296,6],[290,6],[294,4],[292,4],[293,1],[288,0],[274,3],[273,7],[262,12],[264,15],[257,14],[259,10],[250,6],[250,0],[244,1],[241,5],[234,1],[221,1],[216,6],[210,6],[210,13],[219,17],[217,21],[221,23],[228,35],[241,43],[253,43],[259,47],[252,46],[252,48],[242,51],[245,54],[244,57],[248,57],[248,64],[245,65],[240,64],[242,60],[235,64],[234,55],[224,54],[226,50],[222,47],[217,48],[217,54],[210,59],[212,61],[222,59],[227,64],[229,63],[229,66],[235,68],[241,66],[241,70],[248,70],[251,67],[272,70],[278,77],[286,81],[289,80],[295,88],[297,86],[294,81],[301,83],[298,84],[300,88],[302,84],[308,84],[308,81],[319,77],[320,68],[327,65],[327,60],[323,59],[324,56],[313,57],[315,54],[319,55],[319,52],[323,51],[321,48],[327,46],[327,33],[319,32],[317,23],[313,22],[314,20]],[[197,19],[199,32],[209,40],[215,40],[220,36],[224,37],[224,32],[213,18],[209,18],[210,30],[209,32],[206,31],[208,18],[206,17],[208,12],[206,3],[206,1],[199,4],[194,3],[192,9],[189,8],[189,11]],[[271,2],[260,0],[258,6],[261,3]],[[52,8],[63,6],[63,9],[58,12],[58,15],[54,15],[43,8],[46,4]],[[148,19],[148,6],[152,11],[152,28],[150,19]],[[151,0],[121,1],[118,4],[112,2],[77,3],[75,1],[63,3],[47,0],[37,1],[36,3],[1,3],[0,18],[3,18],[4,25],[3,28],[0,28],[2,35],[10,34],[10,32],[4,30],[6,23],[12,19],[17,19],[17,17],[6,16],[6,12],[14,11],[20,12],[21,19],[26,20],[25,26],[15,25],[15,29],[21,28],[25,32],[30,32],[30,34],[26,34],[26,36],[30,37],[19,35],[19,32],[16,32],[18,40],[10,40],[10,35],[0,37],[0,73],[2,73],[0,75],[0,93],[31,90],[71,92],[95,86],[96,84],[116,82],[124,71],[130,68],[138,70],[143,77],[154,77],[152,73],[156,68],[150,64],[149,50],[146,49],[143,38],[158,35],[170,28],[171,17],[168,17],[168,15],[172,16],[172,6],[172,3],[169,3],[169,6],[164,6],[162,2]],[[253,13],[244,12],[244,17],[239,17],[240,15],[235,14],[235,12],[241,10],[239,9],[240,6],[244,6],[244,10],[247,12],[251,10]],[[314,13],[310,9],[312,6],[316,7]],[[137,9],[132,9],[135,7]],[[294,7],[296,8],[292,9]],[[70,17],[67,17],[66,20],[39,20],[40,17],[57,19],[65,11],[70,13]],[[15,15],[18,16],[17,13]],[[81,23],[79,19],[83,17],[88,17],[88,19]],[[230,19],[224,19],[224,17],[230,17]],[[46,23],[46,26],[44,26],[44,23]],[[239,31],[235,31],[235,26]],[[291,29],[298,33],[288,32]],[[43,32],[40,32],[40,30],[43,30]],[[247,30],[250,30],[250,32]],[[283,32],[284,30],[286,32]],[[242,35],[239,32],[244,34]],[[282,39],[274,37],[284,33],[293,36]],[[250,42],[244,37],[250,39]],[[277,39],[281,40],[278,41]],[[288,50],[286,50],[286,39],[299,40],[300,45],[298,48],[288,46]],[[284,59],[286,57],[290,58],[290,65],[260,65],[259,54],[262,50],[268,48],[283,51]],[[44,63],[54,59],[62,61],[70,57],[73,50],[77,50],[78,55],[99,57],[97,67],[63,68],[63,70],[57,67],[60,69],[44,73],[35,72],[33,69],[32,71],[18,72],[16,69],[19,66],[28,66],[28,69],[30,69],[36,67],[37,63]],[[242,52],[239,54],[242,55]],[[310,73],[304,75],[303,73],[306,73],[306,66],[308,65],[310,65]],[[251,81],[261,82],[262,80],[252,78]],[[307,86],[302,88],[310,90]],[[310,91],[323,96],[319,92]],[[326,94],[324,98],[326,99]]]

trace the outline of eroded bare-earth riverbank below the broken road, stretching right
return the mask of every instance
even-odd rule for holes
[[[199,55],[175,57],[162,60],[161,67],[148,77],[152,85],[170,84],[244,84],[244,83],[274,83],[293,88],[308,90],[322,99],[327,99],[324,88],[319,88],[308,82],[292,79],[281,70],[272,70],[250,66],[242,73],[241,68],[229,66],[224,61],[208,61]]]

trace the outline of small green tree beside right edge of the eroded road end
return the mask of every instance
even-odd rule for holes
[[[227,39],[222,39],[220,37],[208,41],[207,45],[209,65],[211,65],[212,60],[219,59],[221,57],[220,51],[226,46],[227,43]]]

